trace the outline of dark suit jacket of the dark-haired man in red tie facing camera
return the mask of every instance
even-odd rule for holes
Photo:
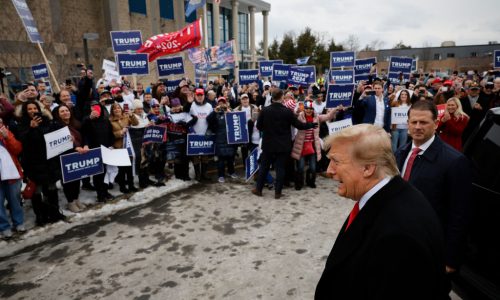
[[[399,170],[411,143],[396,151]],[[439,137],[417,156],[410,183],[429,200],[444,228],[446,264],[458,268],[463,260],[472,197],[472,167],[469,160]]]

